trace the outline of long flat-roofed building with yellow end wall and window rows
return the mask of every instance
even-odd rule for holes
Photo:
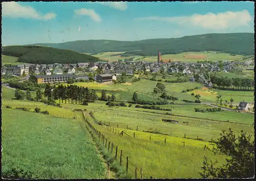
[[[54,83],[54,82],[67,82],[69,78],[75,80],[88,80],[87,75],[73,75],[73,74],[60,74],[60,75],[31,75],[31,79],[34,79],[38,84],[41,83]]]

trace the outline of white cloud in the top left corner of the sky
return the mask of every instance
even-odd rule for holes
[[[41,15],[31,6],[22,6],[16,2],[3,2],[2,15],[12,18],[32,18],[42,20],[50,20],[56,17],[55,13],[47,13],[45,15]]]

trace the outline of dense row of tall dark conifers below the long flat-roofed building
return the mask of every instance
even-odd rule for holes
[[[59,99],[59,103],[60,100],[62,100],[62,103],[64,100],[67,103],[68,100],[69,104],[79,105],[87,105],[88,102],[94,102],[98,98],[95,90],[89,90],[88,87],[84,88],[77,85],[63,86],[61,84],[57,87],[52,87],[47,84],[44,94],[48,99]]]

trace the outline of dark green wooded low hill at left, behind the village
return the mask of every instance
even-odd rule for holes
[[[99,58],[79,54],[68,49],[57,49],[43,46],[4,46],[2,54],[18,57],[18,62],[53,64],[53,63],[78,63],[98,62]]]

